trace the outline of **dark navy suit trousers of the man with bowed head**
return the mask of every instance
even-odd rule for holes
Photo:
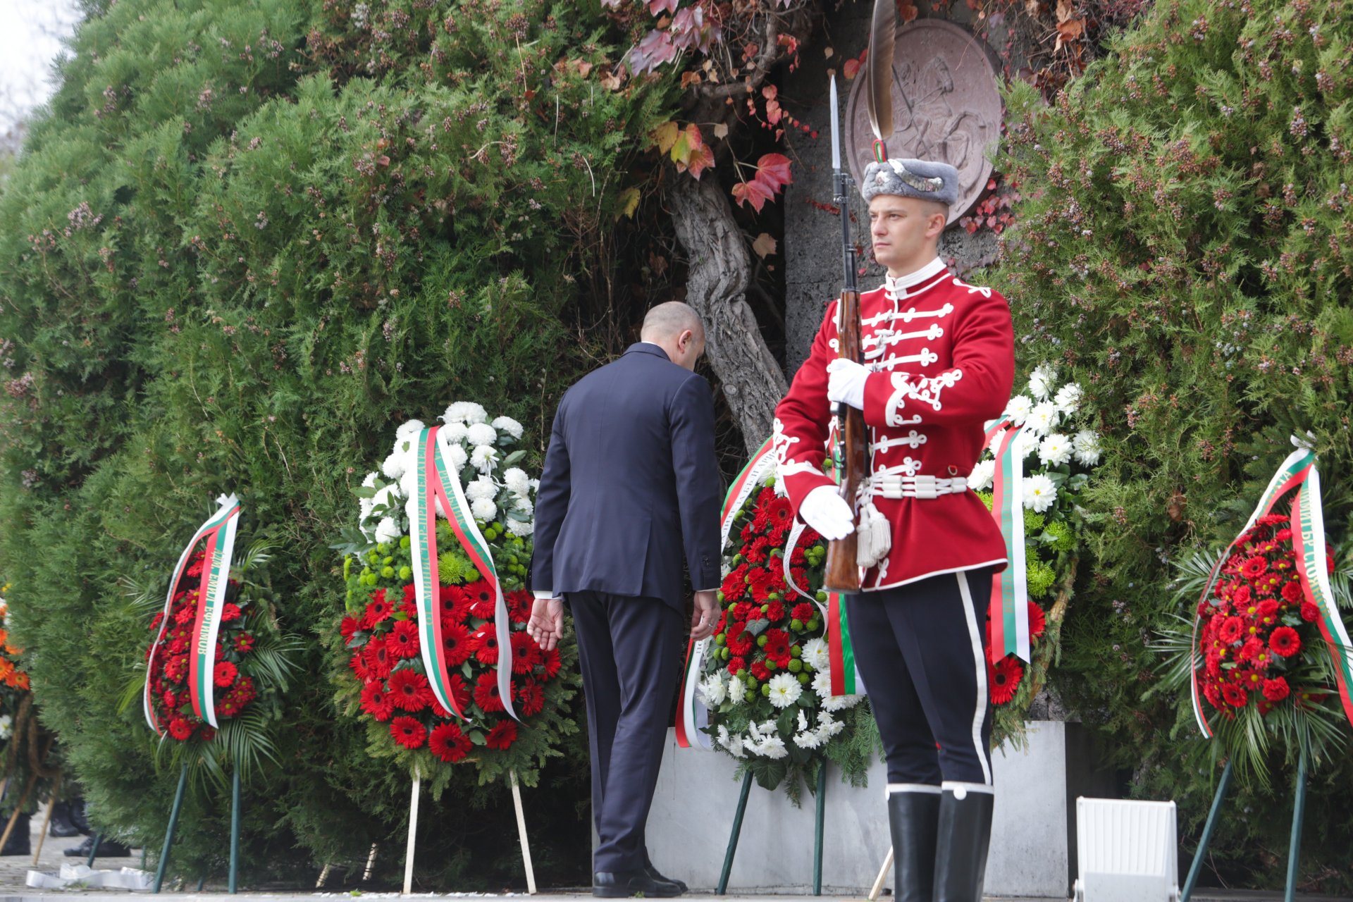
[[[568,592],[587,696],[594,871],[648,864],[644,825],[681,680],[682,615],[656,598]]]

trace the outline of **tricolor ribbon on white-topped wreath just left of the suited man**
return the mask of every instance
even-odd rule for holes
[[[446,514],[456,541],[492,586],[495,595],[494,626],[498,634],[498,696],[509,717],[517,718],[511,705],[511,619],[503,599],[502,583],[494,557],[483,533],[469,513],[469,503],[460,485],[460,473],[451,462],[451,445],[440,431],[441,426],[418,433],[414,446],[414,492],[405,506],[409,514],[410,542],[414,569],[414,600],[418,606],[418,642],[422,646],[423,669],[437,703],[465,719],[451,691],[451,672],[446,668],[446,646],[441,633],[441,580],[437,573],[437,508]]]

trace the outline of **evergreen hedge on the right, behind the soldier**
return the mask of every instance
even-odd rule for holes
[[[1057,686],[1196,828],[1218,769],[1188,701],[1149,695],[1150,645],[1196,603],[1173,598],[1174,561],[1239,531],[1292,433],[1314,435],[1335,544],[1353,514],[1353,8],[1160,0],[1050,107],[1024,85],[1008,104],[1026,200],[989,281],[1022,364],[1085,387],[1105,449]],[[1229,880],[1281,880],[1295,767],[1273,767],[1275,794],[1227,802]],[[1307,886],[1346,891],[1346,755],[1311,786]]]

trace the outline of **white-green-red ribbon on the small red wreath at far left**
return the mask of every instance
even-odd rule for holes
[[[198,586],[198,613],[192,618],[192,633],[188,637],[188,694],[192,699],[192,713],[212,728],[219,726],[216,723],[214,682],[216,636],[221,632],[221,611],[226,603],[226,587],[230,584],[230,559],[234,554],[235,531],[239,527],[239,499],[234,495],[221,495],[216,498],[216,511],[192,534],[192,540],[184,546],[179,563],[173,568],[169,592],[165,596],[164,617],[160,619],[160,633],[156,636],[154,645],[150,646],[150,660],[147,661],[147,673],[153,673],[160,642],[169,627],[169,611],[173,609],[179,581],[183,579],[193,549],[206,540],[207,548],[202,559],[202,577]],[[149,679],[146,679],[143,703],[150,729],[162,734],[164,728],[156,718],[154,705],[150,699]]]

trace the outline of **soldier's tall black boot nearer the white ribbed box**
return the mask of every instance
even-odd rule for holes
[[[944,782],[939,799],[934,902],[982,902],[986,849],[992,840],[992,803],[982,783]]]

